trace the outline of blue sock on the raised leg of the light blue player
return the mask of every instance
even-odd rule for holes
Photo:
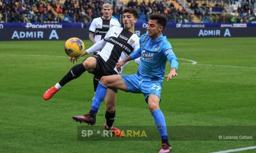
[[[92,99],[91,110],[93,110],[94,112],[98,112],[100,108],[100,104],[105,98],[106,92],[107,92],[107,87],[105,85],[100,84],[99,82],[97,90],[95,92],[95,96]]]

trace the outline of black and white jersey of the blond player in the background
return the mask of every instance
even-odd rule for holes
[[[104,38],[106,33],[108,33],[109,28],[113,26],[120,27],[118,20],[114,18],[111,18],[110,20],[104,20],[102,17],[94,18],[89,31],[95,33],[94,40],[97,43]]]

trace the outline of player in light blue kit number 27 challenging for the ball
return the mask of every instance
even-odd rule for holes
[[[167,60],[171,63],[167,81],[177,76],[179,62],[172,51],[172,45],[163,36],[166,25],[163,15],[150,15],[147,34],[140,38],[140,48],[116,64],[120,71],[127,61],[141,57],[139,68],[134,75],[110,75],[102,77],[93,98],[92,110],[99,110],[100,103],[105,97],[107,87],[114,87],[127,92],[143,93],[150,113],[153,115],[157,129],[162,138],[162,148],[159,152],[171,152],[168,142],[166,122],[159,107],[161,89],[164,80],[164,70]]]

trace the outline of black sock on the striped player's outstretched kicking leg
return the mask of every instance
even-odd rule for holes
[[[78,78],[80,75],[82,75],[86,71],[86,69],[83,66],[83,63],[77,64],[73,68],[68,71],[67,75],[65,75],[59,82],[61,87],[63,87],[65,84],[70,82],[71,80]]]

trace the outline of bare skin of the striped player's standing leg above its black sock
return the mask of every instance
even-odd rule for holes
[[[108,89],[105,96],[106,109],[108,112],[115,111],[116,92]]]

